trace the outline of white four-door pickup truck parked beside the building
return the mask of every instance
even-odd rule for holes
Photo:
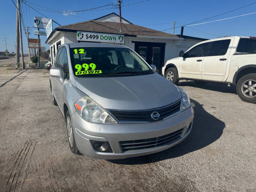
[[[256,103],[256,37],[232,36],[200,42],[165,62],[165,78],[202,85],[219,82],[236,85],[238,96]]]

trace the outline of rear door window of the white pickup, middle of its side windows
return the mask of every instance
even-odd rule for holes
[[[213,41],[208,56],[226,55],[231,39]]]

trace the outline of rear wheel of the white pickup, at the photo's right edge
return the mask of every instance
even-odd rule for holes
[[[241,100],[256,103],[256,73],[241,77],[236,84],[236,92]]]

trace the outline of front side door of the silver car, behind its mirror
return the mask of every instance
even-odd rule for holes
[[[64,85],[64,80],[67,77],[67,66],[68,66],[68,55],[67,55],[67,49],[66,47],[62,48],[61,54],[60,54],[60,59],[59,59],[59,67],[63,70],[64,73],[64,79],[56,78],[56,100],[61,108],[63,106],[63,98],[62,98],[62,90],[63,90],[63,85]]]

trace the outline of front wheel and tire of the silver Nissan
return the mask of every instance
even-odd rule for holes
[[[76,141],[73,133],[73,127],[71,123],[71,118],[69,115],[69,111],[66,113],[66,128],[67,128],[67,134],[68,134],[68,143],[69,143],[69,148],[74,154],[81,154],[76,147]]]

